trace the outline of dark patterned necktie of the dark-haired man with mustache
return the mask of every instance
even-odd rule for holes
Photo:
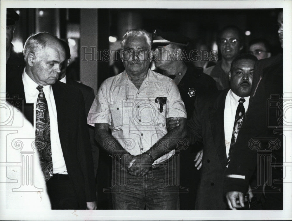
[[[230,142],[230,148],[229,148],[229,153],[228,153],[228,157],[227,157],[226,167],[228,167],[228,165],[229,165],[230,154],[232,152],[233,145],[236,142],[237,135],[239,133],[239,129],[241,128],[242,121],[244,119],[244,114],[245,114],[245,109],[243,106],[245,99],[240,98],[238,102],[239,102],[239,104],[238,104],[237,109],[236,109],[235,121],[234,121],[233,130],[232,130],[232,138],[231,138],[231,142]]]

